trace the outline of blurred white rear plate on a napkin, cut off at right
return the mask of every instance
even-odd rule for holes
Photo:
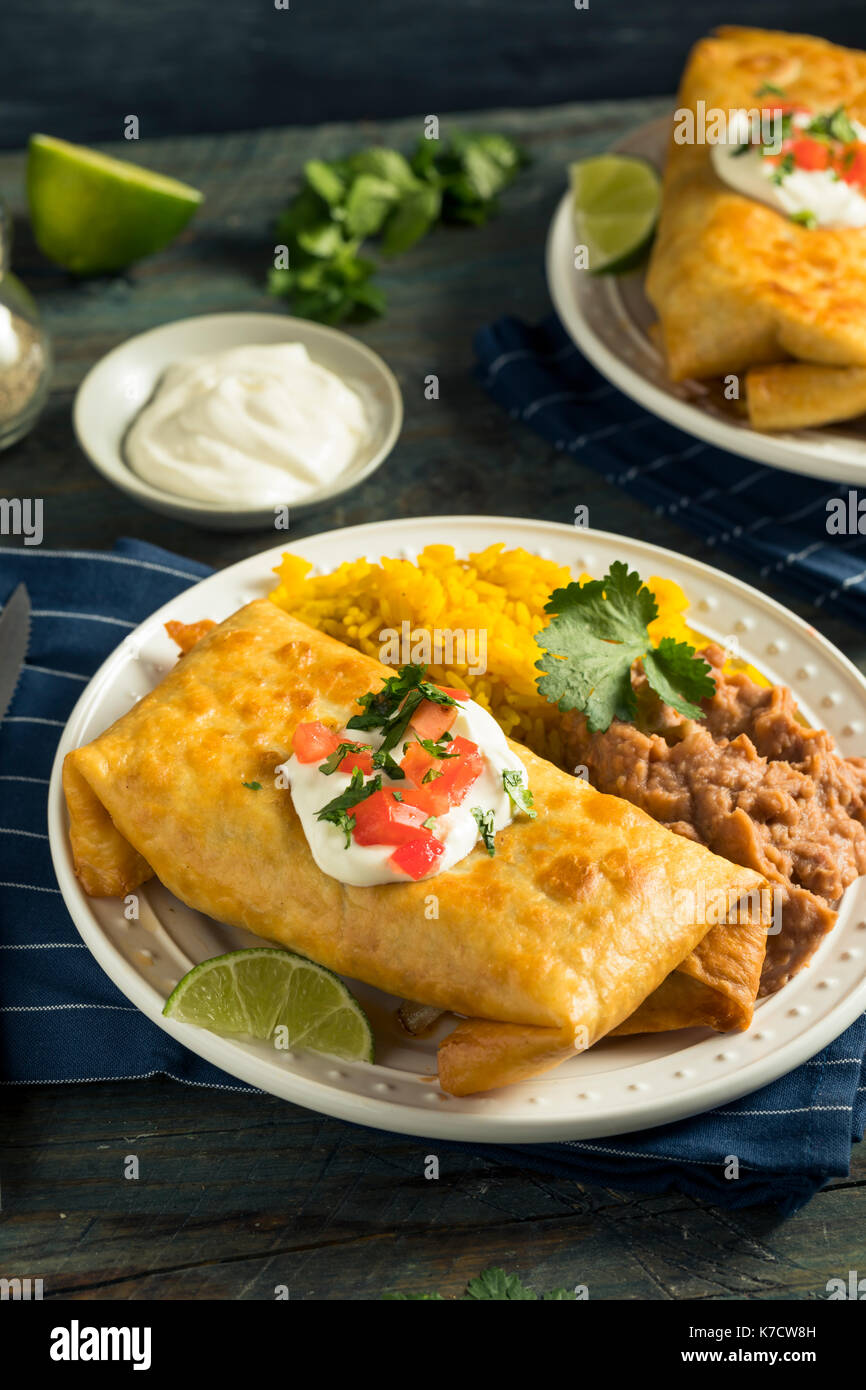
[[[662,171],[670,117],[642,125],[617,145],[620,154],[638,154]],[[833,482],[866,481],[866,417],[827,425],[762,434],[752,430],[706,382],[671,382],[648,328],[656,311],[644,292],[644,271],[591,275],[574,268],[571,196],[556,208],[546,250],[548,288],[566,331],[594,367],[638,404],[730,453],[806,473]]]

